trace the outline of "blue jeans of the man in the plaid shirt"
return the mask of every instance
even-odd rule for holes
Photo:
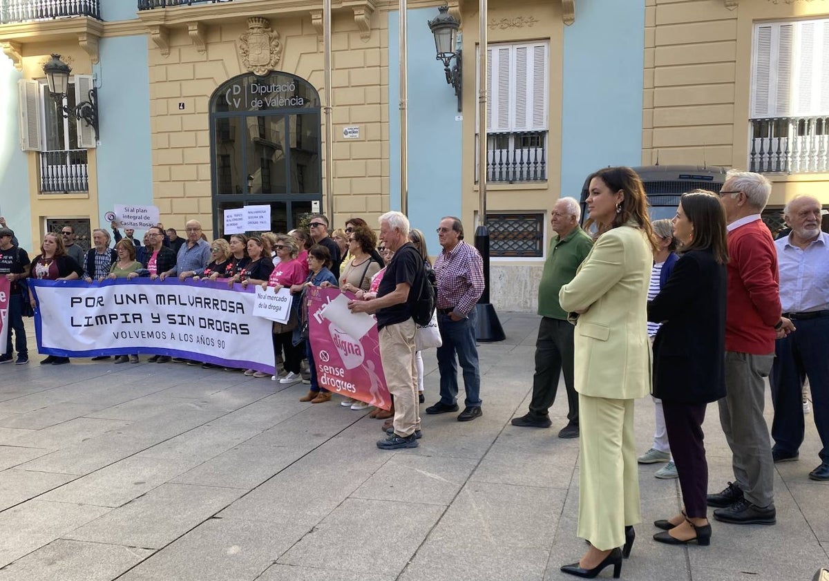
[[[440,401],[453,405],[458,399],[458,361],[463,369],[463,387],[466,389],[466,407],[481,405],[481,371],[478,368],[478,347],[475,345],[475,310],[468,318],[453,321],[438,313],[440,338],[438,369],[440,370]],[[457,353],[457,360],[455,354]]]

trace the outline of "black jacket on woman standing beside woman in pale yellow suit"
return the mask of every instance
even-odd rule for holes
[[[681,256],[651,303],[653,395],[686,404],[725,396],[725,264],[707,250]]]

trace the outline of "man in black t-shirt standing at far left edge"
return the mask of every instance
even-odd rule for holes
[[[12,245],[13,238],[12,230],[0,228],[0,276],[7,278],[10,287],[6,351],[0,355],[0,363],[12,361],[12,332],[14,332],[14,342],[17,347],[15,363],[22,366],[29,362],[29,350],[26,344],[26,329],[23,327],[23,294],[19,281],[29,276],[29,255],[26,250]]]

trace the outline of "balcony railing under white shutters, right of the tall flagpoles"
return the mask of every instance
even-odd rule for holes
[[[475,175],[478,175],[477,169]],[[546,179],[546,131],[487,133],[487,182],[544,182]]]

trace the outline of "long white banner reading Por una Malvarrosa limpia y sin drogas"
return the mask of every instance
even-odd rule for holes
[[[272,324],[253,316],[253,288],[177,278],[30,285],[37,350],[46,355],[152,353],[274,374]]]

